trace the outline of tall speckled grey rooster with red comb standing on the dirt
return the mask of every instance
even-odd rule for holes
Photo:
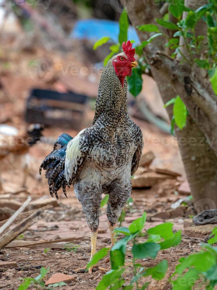
[[[67,197],[66,186],[74,186],[90,228],[90,260],[96,253],[101,196],[109,194],[107,218],[113,247],[114,229],[130,196],[131,176],[138,168],[143,148],[142,132],[127,112],[126,76],[138,63],[130,41],[123,42],[122,48],[123,52],[112,57],[102,72],[92,126],[74,138],[65,133],[59,136],[54,151],[40,167],[40,174],[42,168],[46,170],[52,197],[55,194],[58,199],[60,188]]]

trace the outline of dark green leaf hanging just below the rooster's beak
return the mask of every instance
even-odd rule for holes
[[[127,78],[130,93],[136,97],[142,90],[142,71],[140,67],[132,70],[132,75]]]

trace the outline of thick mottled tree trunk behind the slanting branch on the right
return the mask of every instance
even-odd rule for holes
[[[126,3],[128,1],[125,1]],[[128,16],[133,26],[155,23],[156,18],[161,18],[159,9],[152,4],[153,1],[135,1],[133,9],[128,10]],[[127,5],[126,5],[127,6]],[[139,15],[138,15],[139,14]],[[141,41],[146,40],[149,35],[137,30]],[[157,39],[157,38],[156,38]],[[155,43],[158,45],[158,43]],[[146,60],[151,67],[151,73],[158,85],[163,102],[166,103],[177,95],[170,82],[165,82],[164,71],[156,69],[150,63],[146,53]],[[144,84],[145,85],[145,84]],[[167,108],[170,120],[173,116],[172,106]],[[205,120],[204,120],[205,122]],[[179,144],[179,150],[184,163],[187,180],[190,184],[195,209],[200,212],[217,206],[217,157],[199,129],[197,123],[188,116],[183,130],[175,127],[175,134]]]

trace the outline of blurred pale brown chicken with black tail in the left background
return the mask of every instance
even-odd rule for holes
[[[43,125],[31,124],[25,131],[17,132],[17,130],[8,125],[1,125],[0,127],[0,160],[13,154],[21,157],[21,162],[24,169],[24,180],[22,186],[25,186],[27,175],[29,174],[28,162],[26,162],[26,157],[29,147],[34,145],[40,140],[43,131]],[[0,178],[0,190],[3,189],[2,181]]]

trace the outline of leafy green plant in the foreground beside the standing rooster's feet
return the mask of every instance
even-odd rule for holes
[[[157,253],[161,249],[167,249],[174,247],[181,241],[181,231],[173,233],[172,223],[164,223],[154,228],[150,228],[146,233],[142,233],[146,222],[146,212],[143,213],[141,218],[134,220],[128,228],[120,227],[115,229],[118,234],[123,234],[125,237],[119,240],[114,247],[110,250],[111,270],[106,273],[102,280],[97,285],[97,290],[107,289],[111,286],[111,289],[120,289],[123,285],[125,290],[133,289],[145,289],[147,283],[143,286],[139,286],[139,279],[144,276],[151,276],[156,280],[160,280],[164,277],[167,271],[167,260],[163,260],[154,267],[143,268],[141,264],[136,262],[137,259],[145,259],[151,257],[155,259]],[[139,241],[140,237],[146,236],[145,242]],[[132,241],[132,254],[133,254],[133,278],[129,284],[122,278],[122,274],[125,271],[125,253],[127,244]],[[101,249],[97,252],[92,261],[89,262],[87,268],[91,265],[97,264],[97,262],[106,256],[108,252],[107,248]]]

